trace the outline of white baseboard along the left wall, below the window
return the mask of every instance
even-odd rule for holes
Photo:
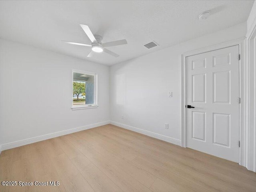
[[[50,133],[50,134],[37,136],[37,137],[33,137],[33,138],[28,138],[28,139],[24,139],[24,140],[20,140],[20,141],[16,141],[16,142],[10,142],[10,143],[6,143],[6,144],[2,144],[2,146],[0,146],[0,152],[1,152],[1,150],[7,150],[7,149],[11,149],[11,148],[15,148],[15,147],[19,147],[19,146],[23,146],[23,145],[27,145],[27,144],[39,142],[39,141],[42,141],[42,140],[46,140],[46,139],[50,139],[50,138],[54,138],[54,137],[59,137],[59,136],[62,136],[62,135],[67,135],[67,134],[70,134],[70,133],[83,131],[83,130],[91,129],[91,128],[98,127],[98,126],[103,126],[103,125],[106,125],[106,124],[110,124],[110,121],[90,124],[90,125],[86,125],[86,126],[82,126],[82,127],[72,128],[72,129],[59,131],[59,132],[55,132],[55,133]]]

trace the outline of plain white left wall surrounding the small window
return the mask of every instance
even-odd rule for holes
[[[72,69],[98,74],[98,108],[72,110]],[[0,39],[1,144],[110,119],[109,67]]]

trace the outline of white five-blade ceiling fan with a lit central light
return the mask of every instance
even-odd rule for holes
[[[102,36],[93,35],[90,28],[87,25],[80,24],[80,26],[82,27],[82,29],[84,30],[88,38],[91,40],[92,44],[83,44],[83,43],[76,43],[76,42],[69,42],[69,41],[62,41],[62,42],[73,44],[73,45],[92,47],[92,51],[88,54],[87,57],[91,57],[93,52],[96,52],[96,53],[105,52],[114,57],[118,57],[119,56],[118,54],[106,49],[105,47],[112,47],[112,46],[127,44],[127,41],[125,39],[102,43]]]

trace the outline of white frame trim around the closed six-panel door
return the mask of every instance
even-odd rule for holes
[[[245,166],[246,162],[246,93],[247,93],[247,81],[246,81],[246,38],[239,38],[236,40],[208,46],[198,50],[186,52],[181,55],[181,146],[186,147],[186,57],[221,48],[226,48],[234,45],[239,45],[239,94],[241,98],[239,108],[239,164]]]

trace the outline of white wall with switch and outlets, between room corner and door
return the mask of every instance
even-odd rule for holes
[[[246,22],[111,66],[110,120],[180,140],[181,54],[245,34]]]

